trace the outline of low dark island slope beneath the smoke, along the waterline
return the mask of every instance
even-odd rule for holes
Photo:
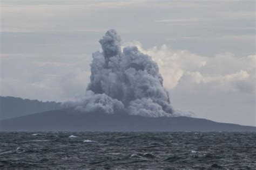
[[[256,131],[256,127],[191,117],[82,114],[52,110],[0,121],[1,131]]]

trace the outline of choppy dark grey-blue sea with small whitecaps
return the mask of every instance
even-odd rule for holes
[[[0,168],[256,169],[256,133],[0,132]]]

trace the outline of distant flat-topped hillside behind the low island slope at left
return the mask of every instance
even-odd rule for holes
[[[42,102],[19,97],[0,96],[0,120],[59,108],[60,103],[56,102]]]

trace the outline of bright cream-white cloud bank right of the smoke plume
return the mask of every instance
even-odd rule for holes
[[[140,51],[152,56],[168,89],[191,90],[194,86],[207,84],[209,90],[235,91],[245,90],[241,87],[246,84],[246,91],[254,91],[256,55],[237,57],[232,53],[222,53],[211,57],[173,51],[166,45],[149,49],[144,49],[138,41],[127,45],[136,45]]]

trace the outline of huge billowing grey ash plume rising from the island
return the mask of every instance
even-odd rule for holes
[[[91,77],[85,96],[63,103],[81,112],[172,116],[169,94],[157,63],[137,47],[120,47],[120,37],[109,30],[99,40],[103,52],[92,54]]]

